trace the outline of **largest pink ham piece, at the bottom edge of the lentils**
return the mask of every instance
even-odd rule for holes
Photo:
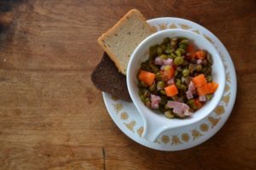
[[[173,113],[179,117],[190,116],[189,105],[177,101],[168,101],[167,107],[173,109]]]

